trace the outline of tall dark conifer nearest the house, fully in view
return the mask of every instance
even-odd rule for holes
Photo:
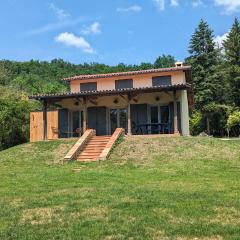
[[[218,74],[219,51],[213,30],[202,19],[190,40],[189,53],[187,62],[192,65],[196,107],[202,109],[207,104],[221,102],[223,80]]]

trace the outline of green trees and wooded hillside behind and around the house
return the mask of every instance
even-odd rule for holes
[[[214,31],[201,20],[188,48],[185,64],[192,66],[194,109],[192,135],[202,132],[215,137],[240,134],[240,22],[236,18],[221,44]],[[64,77],[171,67],[175,57],[161,55],[153,63],[108,66],[100,63],[72,64],[62,59],[51,62],[0,60],[0,150],[29,140],[29,113],[41,108],[28,99],[37,93],[68,91]]]

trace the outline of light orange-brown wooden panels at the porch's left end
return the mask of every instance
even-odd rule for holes
[[[47,139],[58,139],[58,111],[47,112]],[[43,140],[43,112],[30,113],[30,142]]]

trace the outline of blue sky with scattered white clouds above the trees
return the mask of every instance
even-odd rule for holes
[[[0,58],[114,65],[171,54],[183,60],[201,18],[221,41],[239,16],[240,0],[4,0]]]

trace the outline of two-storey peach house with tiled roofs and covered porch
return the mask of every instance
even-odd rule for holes
[[[111,135],[189,135],[191,67],[79,75],[63,79],[70,92],[31,96],[43,111],[31,113],[31,141],[78,137],[86,129]],[[51,110],[55,106],[57,110]]]

